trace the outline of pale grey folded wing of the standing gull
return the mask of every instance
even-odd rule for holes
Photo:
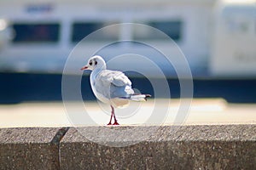
[[[121,71],[102,71],[96,77],[96,91],[108,99],[123,98],[134,94],[131,81]]]

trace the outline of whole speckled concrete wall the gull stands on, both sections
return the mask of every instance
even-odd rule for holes
[[[103,128],[80,127],[83,133]],[[136,127],[155,132],[126,147],[106,145],[135,141],[136,135],[86,139],[74,127],[0,129],[0,169],[256,169],[256,125]]]

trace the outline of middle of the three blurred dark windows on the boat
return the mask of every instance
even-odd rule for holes
[[[110,26],[113,23],[103,23],[103,22],[75,22],[73,23],[72,31],[72,42],[79,42],[84,37],[88,36],[93,31],[103,28],[104,26]],[[117,41],[119,37],[118,26],[115,26],[114,30],[104,29],[99,31],[97,34],[93,35],[93,39],[96,41],[101,40],[113,40]]]

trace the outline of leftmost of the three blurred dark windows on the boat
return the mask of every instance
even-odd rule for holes
[[[24,24],[13,25],[13,42],[58,42],[60,24]]]

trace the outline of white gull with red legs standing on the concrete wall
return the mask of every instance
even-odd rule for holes
[[[146,101],[150,94],[136,94],[131,88],[131,80],[121,71],[111,71],[102,56],[92,56],[81,71],[89,70],[90,86],[96,98],[111,107],[110,121],[107,125],[119,125],[114,108],[129,105],[129,101]],[[113,119],[113,124],[112,124]]]

